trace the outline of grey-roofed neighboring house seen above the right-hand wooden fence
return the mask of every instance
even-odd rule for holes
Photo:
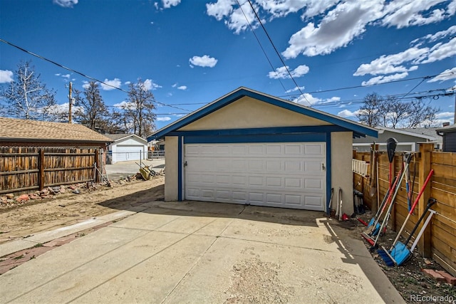
[[[435,142],[435,148],[440,149],[442,137],[435,133],[435,128],[391,129],[389,127],[375,127],[378,138],[366,136],[353,139],[353,150],[370,152],[373,142],[379,145],[380,150],[386,150],[386,140],[393,137],[398,141],[396,151],[418,151],[419,142]],[[432,129],[432,130],[431,130]]]

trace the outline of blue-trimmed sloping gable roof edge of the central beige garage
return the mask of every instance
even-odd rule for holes
[[[172,122],[170,125],[167,125],[165,127],[162,127],[162,129],[155,131],[147,137],[147,141],[155,140],[157,138],[162,138],[167,135],[169,132],[173,132],[175,130],[179,130],[181,127],[184,127],[185,125],[189,125],[192,122],[195,122],[196,120],[199,120],[200,118],[215,112],[221,108],[223,108],[226,105],[229,105],[230,103],[234,103],[234,101],[239,100],[240,98],[243,97],[249,97],[249,98],[254,98],[260,101],[263,101],[264,103],[269,103],[271,105],[276,105],[280,108],[284,108],[286,110],[291,110],[293,112],[300,113],[302,115],[306,115],[309,117],[314,117],[318,120],[323,120],[325,122],[329,122],[333,125],[337,125],[339,127],[346,128],[348,131],[353,131],[353,136],[356,137],[361,137],[361,136],[373,136],[377,137],[378,136],[378,131],[375,130],[373,127],[367,127],[366,125],[361,125],[358,122],[353,122],[351,120],[346,120],[345,118],[338,117],[336,115],[331,115],[329,113],[320,111],[320,110],[315,110],[314,108],[309,108],[304,105],[299,105],[297,103],[290,102],[288,100],[284,100],[281,98],[277,98],[271,95],[267,95],[264,93],[259,93],[255,90],[251,90],[249,88],[244,88],[240,87],[237,88],[236,90],[232,91],[231,93],[228,93],[227,95],[222,96],[221,98],[214,100],[212,103],[209,103],[208,105],[205,105],[202,108],[199,108],[195,112],[192,112],[182,118],[180,120],[177,120],[175,122]]]

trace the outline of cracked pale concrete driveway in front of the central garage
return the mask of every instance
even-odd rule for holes
[[[0,303],[404,303],[321,212],[154,201],[130,214],[1,275]]]

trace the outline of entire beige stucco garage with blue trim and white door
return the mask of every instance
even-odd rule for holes
[[[238,88],[147,140],[165,138],[167,201],[326,211],[340,188],[352,214],[352,139],[365,135],[377,130]]]

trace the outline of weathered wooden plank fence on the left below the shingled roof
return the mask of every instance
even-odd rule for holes
[[[0,194],[95,182],[98,159],[93,148],[0,147]]]

